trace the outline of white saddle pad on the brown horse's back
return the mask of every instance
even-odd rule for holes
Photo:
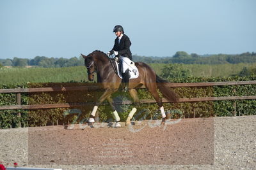
[[[122,73],[123,73],[123,70],[122,70],[122,62],[118,62],[118,61],[115,61],[116,63],[116,68],[117,68],[117,74],[118,76],[122,79]],[[128,64],[129,65],[129,78],[132,79],[132,78],[138,78],[139,76],[139,70],[138,68],[135,66],[135,63],[133,61],[131,61],[131,63]]]

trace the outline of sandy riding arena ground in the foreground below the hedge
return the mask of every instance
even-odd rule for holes
[[[0,130],[0,160],[62,169],[255,169],[256,116]]]

